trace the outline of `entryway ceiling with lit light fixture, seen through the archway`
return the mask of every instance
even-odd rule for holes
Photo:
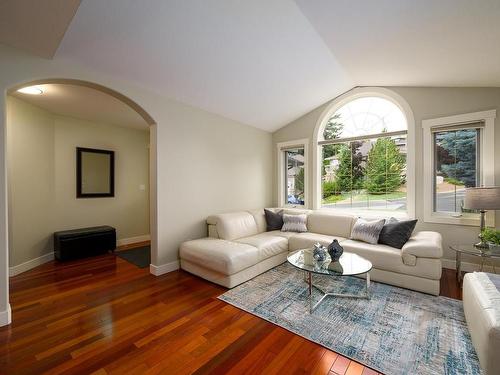
[[[127,104],[99,90],[54,83],[37,85],[37,87],[42,89],[42,95],[19,92],[13,92],[11,95],[58,115],[104,125],[111,124],[141,130],[149,128],[143,118]]]

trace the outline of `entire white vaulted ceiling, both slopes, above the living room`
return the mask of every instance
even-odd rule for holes
[[[498,19],[498,0],[84,0],[54,59],[274,131],[354,86],[500,86]]]

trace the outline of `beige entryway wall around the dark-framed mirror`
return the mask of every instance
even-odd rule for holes
[[[54,123],[58,230],[111,225],[119,240],[149,234],[149,132],[62,116]],[[76,199],[76,147],[115,152],[114,197]]]

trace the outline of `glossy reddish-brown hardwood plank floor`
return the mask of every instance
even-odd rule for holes
[[[443,270],[443,294],[460,298]],[[10,279],[1,374],[346,374],[377,372],[217,299],[183,271],[155,277],[103,255]]]

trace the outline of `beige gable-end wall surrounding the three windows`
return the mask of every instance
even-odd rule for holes
[[[416,216],[419,219],[417,230],[434,230],[443,235],[445,258],[454,259],[455,253],[448,249],[452,243],[477,242],[478,229],[470,226],[424,223],[423,201],[423,152],[422,120],[450,116],[461,113],[496,109],[495,120],[495,179],[500,182],[500,88],[418,88],[387,87],[401,95],[410,105],[416,126]],[[310,139],[309,160],[312,161],[313,132],[323,111],[331,102],[316,108],[298,120],[279,129],[273,134],[274,168],[276,168],[276,143],[300,138]],[[274,173],[276,176],[276,173]],[[312,166],[309,166],[309,191],[312,191]],[[277,184],[274,179],[274,202],[277,202]],[[500,212],[496,213],[496,226],[500,226]],[[466,259],[474,261],[475,259]]]

